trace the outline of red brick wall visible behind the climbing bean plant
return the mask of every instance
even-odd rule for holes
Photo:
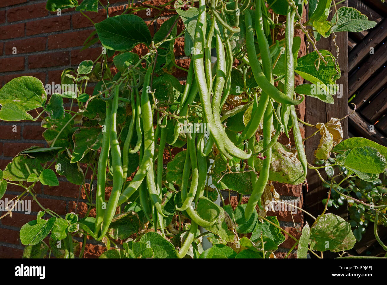
[[[165,0],[149,1],[154,5],[163,3]],[[78,0],[78,2],[82,2]],[[102,1],[104,5],[106,0]],[[166,2],[166,1],[165,1]],[[164,2],[164,3],[165,3]],[[80,52],[84,40],[94,30],[92,23],[74,9],[62,10],[62,15],[57,16],[55,12],[48,12],[45,9],[46,0],[1,0],[0,1],[0,87],[11,79],[19,76],[34,76],[39,78],[44,84],[60,82],[60,74],[67,67],[76,68],[82,60],[96,59],[101,52],[99,43],[92,45]],[[109,15],[121,14],[125,9],[127,1],[110,0]],[[87,12],[94,22],[102,21],[106,18],[106,11],[99,10],[99,13]],[[145,21],[151,21],[156,16],[157,11],[152,11],[151,16],[146,16],[146,12],[138,13],[138,16]],[[157,31],[158,27],[165,21],[170,12],[165,12],[163,17],[155,21],[151,26],[151,34]],[[180,33],[182,23],[179,23],[178,33]],[[179,31],[180,30],[180,31]],[[16,47],[17,54],[12,54]],[[184,55],[183,38],[176,40],[175,46],[176,63],[188,68],[189,60]],[[142,52],[141,47],[135,48],[137,52]],[[178,69],[173,75],[183,80],[185,73]],[[92,91],[92,84],[89,85]],[[90,91],[89,90],[89,91]],[[69,108],[69,104],[66,105]],[[303,107],[305,109],[305,107]],[[305,114],[305,110],[301,113]],[[16,125],[16,132],[12,131],[12,125]],[[0,168],[12,160],[12,157],[23,149],[32,145],[47,146],[43,136],[43,128],[40,122],[20,121],[4,122],[0,121]],[[86,187],[89,185],[87,184]],[[296,187],[276,187],[277,192],[292,199],[299,199],[302,203],[302,191],[300,186]],[[48,207],[58,214],[75,211],[78,203],[78,213],[80,217],[86,212],[86,197],[79,187],[68,183],[60,178],[60,186],[43,187],[37,186],[36,194],[43,207]],[[9,185],[3,199],[12,199],[21,193],[20,187]],[[0,258],[21,257],[23,245],[19,240],[19,230],[22,225],[36,218],[40,210],[35,202],[31,202],[31,214],[25,215],[18,212],[12,213],[12,218],[7,216],[0,219]],[[2,213],[4,214],[4,212]],[[278,213],[272,213],[278,214]],[[287,213],[280,213],[279,220],[281,226],[290,233],[298,237],[300,234],[297,228],[303,223],[303,216],[297,214],[295,217],[296,228],[292,218]],[[46,241],[47,242],[47,241]],[[286,240],[281,245],[280,251],[285,252],[291,248],[293,242]],[[104,251],[104,246],[97,242],[87,244],[85,257],[96,257]],[[277,256],[283,256],[279,252]]]

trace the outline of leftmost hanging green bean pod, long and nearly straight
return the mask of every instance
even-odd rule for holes
[[[109,160],[109,149],[110,149],[110,123],[111,123],[111,101],[106,101],[106,118],[104,123],[104,132],[102,136],[101,154],[98,159],[97,168],[97,187],[96,187],[96,221],[94,226],[94,234],[97,237],[105,209],[102,204],[105,202],[105,183],[106,183],[106,165]]]

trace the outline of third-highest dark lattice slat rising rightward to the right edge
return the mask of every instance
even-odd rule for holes
[[[356,104],[357,109],[359,109],[363,104],[367,102],[370,98],[373,97],[383,86],[387,83],[387,67],[382,67],[381,70],[378,70],[373,74],[373,78],[366,83],[359,92],[356,93],[355,98],[351,102]]]

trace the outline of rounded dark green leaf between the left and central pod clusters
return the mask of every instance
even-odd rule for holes
[[[180,96],[182,85],[175,76],[164,74],[154,78],[152,88],[154,97],[165,103],[174,103]]]

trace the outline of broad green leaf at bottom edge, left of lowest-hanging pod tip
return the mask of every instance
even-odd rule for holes
[[[171,242],[154,231],[142,235],[140,242],[144,242],[152,248],[154,258],[176,258],[176,249]]]

